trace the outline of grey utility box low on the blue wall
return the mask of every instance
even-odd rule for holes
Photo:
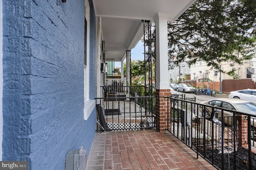
[[[76,149],[69,150],[66,154],[65,170],[85,170],[87,162],[86,150]]]

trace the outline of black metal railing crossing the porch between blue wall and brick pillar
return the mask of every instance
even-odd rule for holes
[[[97,131],[125,131],[156,127],[155,96],[95,98]],[[100,111],[101,110],[101,111]],[[107,125],[103,127],[102,125]]]

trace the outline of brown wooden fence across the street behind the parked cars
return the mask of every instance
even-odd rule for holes
[[[196,88],[210,88],[212,90],[220,91],[220,82],[196,82],[196,80],[184,80],[181,83],[188,83]],[[205,85],[204,85],[205,84]],[[229,93],[231,91],[242,89],[256,89],[256,83],[252,79],[239,80],[222,80],[222,92]]]

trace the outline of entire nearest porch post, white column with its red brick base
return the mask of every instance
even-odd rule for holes
[[[156,129],[165,131],[167,128],[166,96],[170,96],[168,72],[168,32],[167,14],[156,16]],[[169,105],[170,106],[170,105]]]

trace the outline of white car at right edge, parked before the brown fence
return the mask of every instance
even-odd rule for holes
[[[230,92],[229,98],[248,100],[256,104],[256,89],[244,89]]]

